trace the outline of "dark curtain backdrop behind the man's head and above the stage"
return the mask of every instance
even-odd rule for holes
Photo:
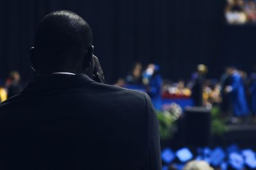
[[[71,10],[89,22],[95,54],[109,83],[124,77],[136,61],[161,66],[164,78],[188,78],[196,64],[218,77],[227,64],[250,70],[255,56],[255,27],[230,27],[224,0],[1,0],[0,78],[19,70],[33,73],[28,49],[36,24],[54,10]],[[252,62],[253,61],[253,62]]]

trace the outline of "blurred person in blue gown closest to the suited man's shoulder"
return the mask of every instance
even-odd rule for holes
[[[156,110],[161,110],[162,77],[159,70],[160,67],[156,64],[149,64],[146,71],[143,73],[143,83]]]

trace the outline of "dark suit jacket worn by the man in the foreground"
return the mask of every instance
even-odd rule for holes
[[[40,76],[2,103],[0,144],[0,169],[161,169],[147,94],[85,74]]]

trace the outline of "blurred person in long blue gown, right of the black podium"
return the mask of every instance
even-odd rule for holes
[[[228,68],[228,73],[231,83],[225,87],[225,91],[229,94],[234,116],[245,117],[249,115],[250,111],[246,101],[243,78],[234,67]]]

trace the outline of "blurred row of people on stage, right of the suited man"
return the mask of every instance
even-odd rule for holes
[[[212,108],[220,106],[223,116],[246,117],[256,115],[256,66],[247,74],[234,66],[228,66],[218,79],[207,78],[207,66],[199,64],[189,80],[163,80],[160,67],[140,63],[126,78],[115,85],[147,92],[157,110],[161,110],[161,99],[193,99],[194,106]]]

